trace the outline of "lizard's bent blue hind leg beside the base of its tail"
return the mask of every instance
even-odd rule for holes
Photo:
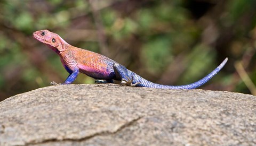
[[[135,82],[134,76],[127,70],[126,67],[124,67],[121,64],[115,63],[113,65],[116,78],[121,81],[121,85],[127,85],[127,86],[136,86],[137,84],[140,84],[141,82]]]

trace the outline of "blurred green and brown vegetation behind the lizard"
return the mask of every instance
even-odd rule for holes
[[[41,29],[161,84],[194,82],[228,57],[201,89],[255,94],[255,6],[250,0],[1,1],[0,101],[67,78],[58,55],[32,37]],[[79,74],[75,83],[94,80]]]

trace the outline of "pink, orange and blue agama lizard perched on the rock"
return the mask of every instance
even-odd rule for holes
[[[69,45],[59,35],[49,30],[39,30],[33,33],[34,38],[49,46],[60,56],[62,65],[69,73],[68,78],[62,84],[73,83],[78,73],[84,73],[97,79],[100,83],[113,83],[113,80],[121,81],[122,85],[164,89],[194,89],[209,81],[227,63],[226,58],[215,70],[203,79],[187,85],[163,85],[143,79],[138,74],[128,70],[123,65],[112,59],[94,53],[86,49]],[[104,80],[104,81],[103,81]],[[57,84],[53,82],[52,84]]]

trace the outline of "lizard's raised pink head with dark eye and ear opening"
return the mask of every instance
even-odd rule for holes
[[[66,45],[67,42],[56,33],[49,30],[38,30],[33,33],[33,36],[35,39],[50,46],[50,48],[52,48],[58,54],[65,51],[64,45]]]

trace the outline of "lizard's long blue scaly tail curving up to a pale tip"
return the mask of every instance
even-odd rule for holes
[[[127,70],[126,75],[125,76],[121,75],[121,78],[125,79],[125,77],[127,77],[127,76],[129,78],[132,77],[133,84],[140,82],[139,84],[135,85],[136,87],[162,88],[162,89],[195,89],[195,88],[203,85],[207,81],[209,81],[215,74],[217,74],[221,70],[221,68],[227,63],[227,61],[228,61],[228,58],[226,58],[217,68],[215,68],[215,70],[213,70],[210,74],[206,75],[203,79],[201,79],[197,82],[191,83],[191,84],[187,84],[187,85],[156,84],[156,83],[150,82],[146,79],[143,79],[138,74],[136,74],[130,70],[127,70],[127,69],[126,69]]]

